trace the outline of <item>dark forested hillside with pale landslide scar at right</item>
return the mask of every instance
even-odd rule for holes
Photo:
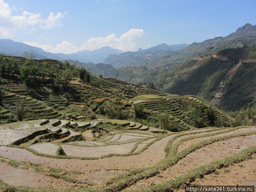
[[[226,110],[238,110],[256,98],[255,54],[256,44],[220,50],[216,58],[202,59],[196,69],[177,77],[165,90],[214,99],[214,104]]]

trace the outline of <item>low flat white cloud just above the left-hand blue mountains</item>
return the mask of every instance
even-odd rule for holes
[[[60,44],[56,46],[52,45],[42,45],[39,42],[24,42],[27,45],[39,47],[47,52],[52,53],[64,53],[64,54],[71,54],[79,51],[79,48],[74,46],[72,43],[68,41],[62,41]]]

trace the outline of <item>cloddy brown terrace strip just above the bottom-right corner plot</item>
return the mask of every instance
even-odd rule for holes
[[[215,160],[223,159],[226,156],[241,152],[242,150],[254,145],[256,145],[256,135],[214,142],[211,145],[205,146],[188,154],[185,158],[179,160],[177,164],[161,172],[160,174],[145,180],[141,180],[126,190],[167,182],[168,180],[181,176],[182,174],[185,174],[196,167],[209,164]]]

